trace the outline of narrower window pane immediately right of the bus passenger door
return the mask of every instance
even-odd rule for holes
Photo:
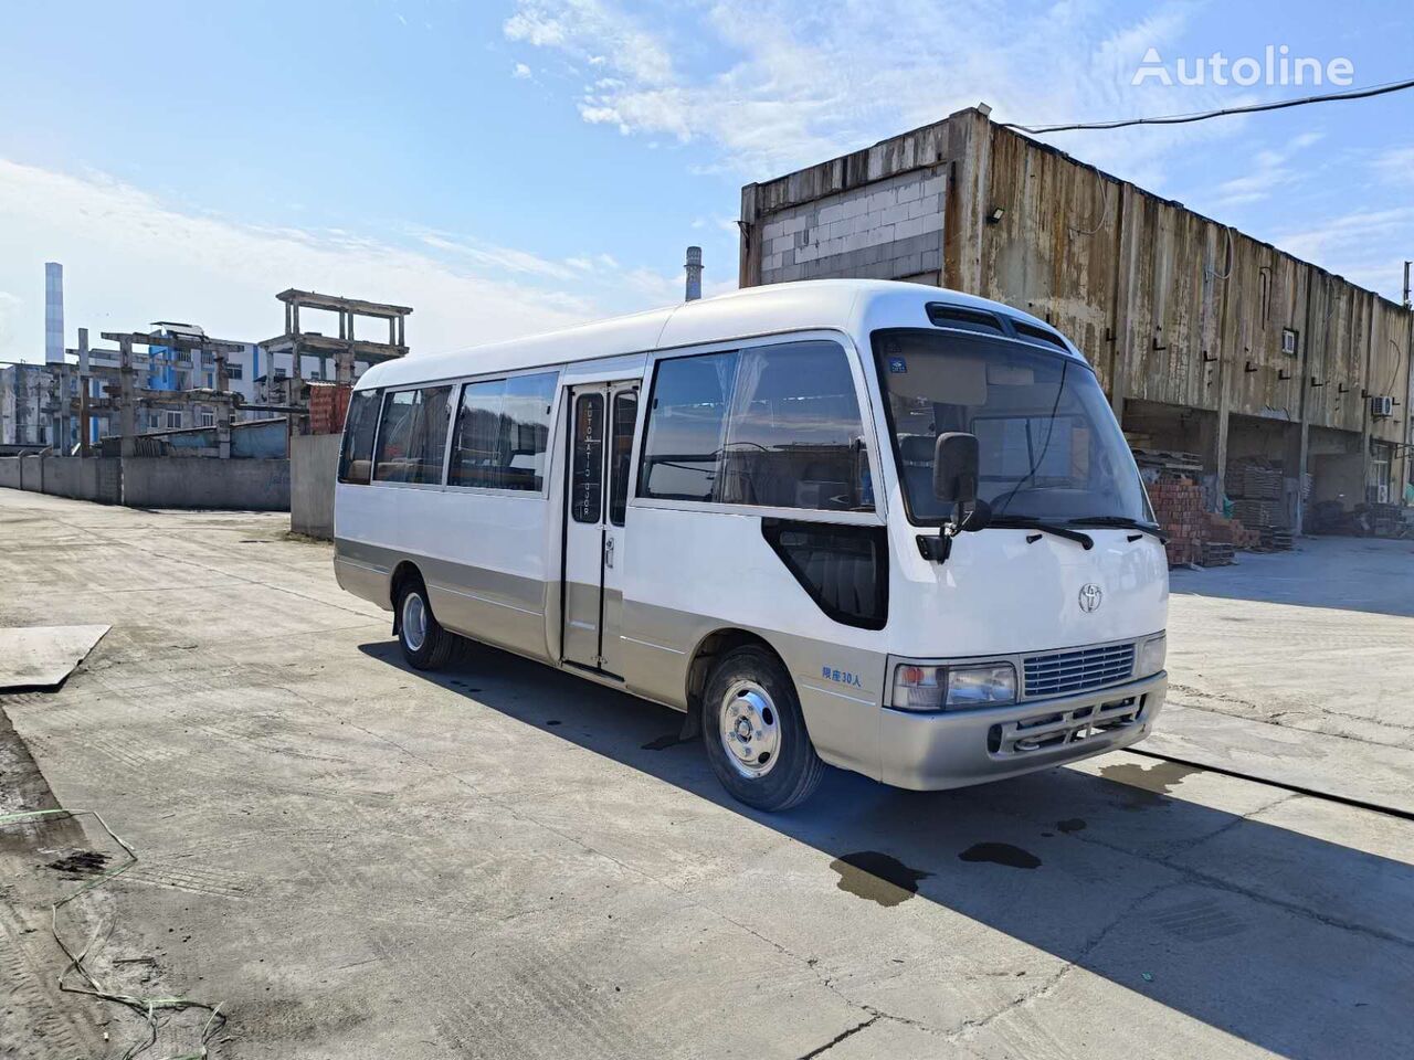
[[[735,376],[735,352],[659,363],[643,440],[641,496],[715,500]]]

